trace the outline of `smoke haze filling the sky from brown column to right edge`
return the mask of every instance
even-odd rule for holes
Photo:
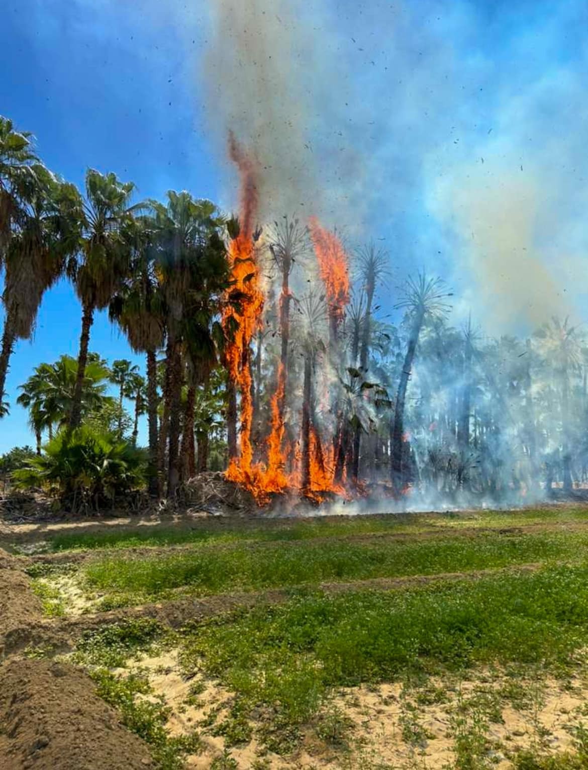
[[[447,280],[454,323],[473,310],[489,333],[526,333],[581,316],[580,3],[210,8],[209,128],[219,158],[229,129],[255,157],[260,219],[318,214],[352,243],[381,239],[393,284],[423,267]]]

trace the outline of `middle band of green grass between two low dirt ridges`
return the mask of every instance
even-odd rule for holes
[[[576,560],[586,555],[588,532],[521,536],[480,534],[422,541],[319,544],[187,551],[170,556],[128,559],[109,556],[88,564],[90,588],[158,596],[174,588],[195,594],[279,586],[354,581],[373,577],[473,571],[493,567]]]

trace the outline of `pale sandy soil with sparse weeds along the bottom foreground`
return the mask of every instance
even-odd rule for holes
[[[182,678],[177,651],[144,656],[132,666],[149,678],[155,695],[165,698],[172,710],[168,727],[173,735],[201,730],[203,750],[187,758],[186,766],[205,770],[225,748],[214,724],[226,717],[232,693],[218,682],[200,681],[197,698],[190,698],[195,682]],[[129,669],[119,669],[119,674]],[[325,707],[346,727],[342,740],[329,744],[309,728],[296,752],[279,756],[267,752],[254,737],[230,749],[239,770],[255,762],[268,770],[295,768],[411,768],[443,770],[456,759],[456,737],[469,731],[481,736],[484,756],[498,770],[512,768],[509,757],[522,749],[540,754],[573,750],[574,725],[583,724],[588,682],[533,678],[521,681],[504,672],[476,671],[467,680],[431,679],[426,685],[401,684],[345,688],[333,694]],[[218,709],[213,725],[203,726]]]

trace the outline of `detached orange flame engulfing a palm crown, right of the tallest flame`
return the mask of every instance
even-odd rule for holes
[[[309,229],[325,284],[329,314],[340,322],[349,303],[349,260],[339,238],[324,228],[316,216],[310,217]]]

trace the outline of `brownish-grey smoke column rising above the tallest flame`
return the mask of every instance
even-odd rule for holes
[[[209,122],[234,132],[257,164],[259,216],[312,213],[319,186],[309,159],[304,22],[286,0],[214,0],[205,55]]]

